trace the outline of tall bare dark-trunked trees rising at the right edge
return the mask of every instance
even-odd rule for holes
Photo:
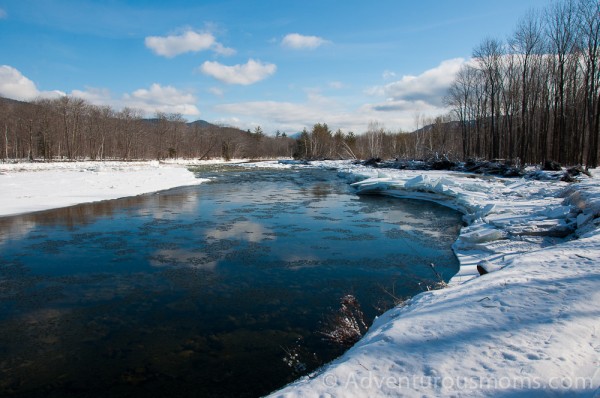
[[[485,38],[452,84],[463,158],[598,166],[600,2],[532,10],[507,40]]]

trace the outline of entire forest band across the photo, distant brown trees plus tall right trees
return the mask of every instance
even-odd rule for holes
[[[556,161],[598,166],[600,2],[558,0],[524,15],[505,40],[473,49],[444,98],[449,112],[416,117],[413,132],[373,121],[365,132],[324,122],[288,136],[144,118],[63,96],[23,103],[0,98],[0,159],[449,159],[516,166]]]

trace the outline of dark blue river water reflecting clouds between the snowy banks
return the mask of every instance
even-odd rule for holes
[[[342,351],[340,297],[370,322],[458,269],[460,215],[358,197],[331,171],[216,177],[0,218],[0,396],[258,396]],[[298,354],[292,366],[290,354]]]

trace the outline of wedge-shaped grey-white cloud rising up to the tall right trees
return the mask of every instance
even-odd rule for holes
[[[372,87],[367,93],[390,101],[422,101],[442,107],[444,95],[465,62],[463,58],[446,60],[418,76],[405,75],[395,82]]]

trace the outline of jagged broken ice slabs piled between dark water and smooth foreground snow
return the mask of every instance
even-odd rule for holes
[[[580,214],[564,203],[561,192],[568,185],[562,182],[432,171],[379,175],[353,185],[359,194],[429,200],[462,212],[467,227],[453,246],[461,265],[454,283],[479,275],[478,264],[498,269],[511,257],[559,243],[575,231]]]

